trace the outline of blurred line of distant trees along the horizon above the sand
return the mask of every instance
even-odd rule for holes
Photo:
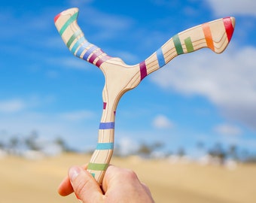
[[[4,141],[5,140],[5,141]],[[54,146],[59,147],[62,152],[77,152],[72,147],[69,147],[69,144],[61,137],[58,136],[53,141],[42,141],[37,132],[31,132],[27,136],[18,136],[13,135],[9,138],[3,139],[0,137],[0,150],[4,150],[8,154],[12,155],[22,155],[26,150],[32,151],[43,151],[45,145],[53,144]],[[127,152],[125,155],[120,153],[122,146],[116,144],[114,148],[114,156],[131,156],[138,155],[144,158],[167,158],[169,156],[178,156],[184,157],[189,156],[186,153],[184,147],[178,147],[175,151],[169,151],[163,153],[163,148],[165,144],[162,142],[155,142],[147,144],[142,142],[139,144],[139,147],[133,152]],[[224,148],[221,143],[213,144],[212,147],[206,148],[203,142],[197,142],[195,149],[203,151],[206,155],[211,156],[212,158],[218,159],[221,163],[224,163],[227,159],[232,159],[236,162],[254,162],[256,163],[256,155],[250,154],[247,150],[239,150],[235,144],[231,144],[229,147]],[[85,151],[84,153],[92,153],[92,150]]]

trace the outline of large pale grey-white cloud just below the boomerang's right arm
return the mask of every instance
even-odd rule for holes
[[[179,59],[157,71],[151,80],[183,95],[204,96],[225,116],[255,129],[255,56],[254,47],[233,47],[221,55],[209,51],[190,53],[178,56]]]

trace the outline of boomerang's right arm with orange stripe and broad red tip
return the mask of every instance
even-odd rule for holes
[[[232,38],[234,27],[235,18],[226,17],[178,33],[139,64],[142,79],[183,53],[194,52],[204,47],[215,53],[222,53]]]

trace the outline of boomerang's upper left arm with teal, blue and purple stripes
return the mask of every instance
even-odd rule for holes
[[[99,67],[111,57],[84,38],[84,33],[77,23],[78,12],[78,8],[70,8],[56,15],[54,18],[56,29],[75,56]]]

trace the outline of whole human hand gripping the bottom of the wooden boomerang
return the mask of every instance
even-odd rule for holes
[[[102,188],[84,167],[72,167],[69,176],[59,185],[59,195],[75,195],[83,203],[151,203],[154,202],[151,192],[141,183],[134,171],[109,165],[105,171]]]

